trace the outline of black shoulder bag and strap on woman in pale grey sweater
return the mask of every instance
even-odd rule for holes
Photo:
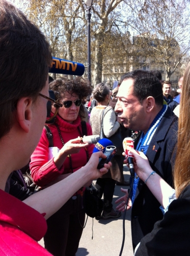
[[[103,132],[103,117],[104,117],[105,110],[106,110],[106,108],[102,112],[101,128],[100,128],[100,139],[107,138],[104,135],[104,132]],[[114,146],[116,146],[117,155],[122,155],[124,150],[123,150],[123,138],[122,138],[122,135],[121,135],[120,127],[118,128],[118,130],[115,134],[113,134],[111,137],[109,137],[107,139],[111,140],[113,142]]]

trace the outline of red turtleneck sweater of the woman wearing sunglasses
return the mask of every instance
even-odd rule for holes
[[[59,115],[56,117],[56,123],[59,125],[61,135],[64,143],[71,139],[75,139],[78,136],[81,137],[77,127],[79,127],[82,134],[82,126],[80,124],[80,117],[78,116],[73,123],[66,122]],[[90,124],[87,124],[87,135],[92,135],[92,129]],[[53,134],[53,146],[57,146],[59,149],[63,147],[58,129],[55,124],[50,124],[49,128]],[[90,144],[88,147],[89,158],[92,155],[94,144]],[[66,158],[62,167],[57,168],[53,158],[48,161],[49,142],[46,135],[46,130],[43,129],[41,139],[31,156],[30,169],[34,182],[39,186],[44,186],[50,181],[55,180],[61,174],[72,173],[70,167],[69,157]],[[73,172],[86,165],[87,154],[85,148],[82,148],[79,153],[71,155]]]

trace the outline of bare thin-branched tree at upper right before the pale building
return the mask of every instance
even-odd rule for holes
[[[134,48],[139,56],[165,67],[166,80],[190,49],[189,3],[186,0],[137,0],[131,3]]]

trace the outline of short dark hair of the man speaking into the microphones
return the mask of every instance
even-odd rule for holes
[[[157,105],[163,105],[163,92],[161,83],[155,75],[144,70],[134,70],[121,77],[122,81],[133,79],[133,95],[142,102],[148,96],[155,99]]]

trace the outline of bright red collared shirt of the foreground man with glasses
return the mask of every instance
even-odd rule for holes
[[[0,255],[51,255],[36,242],[47,230],[43,215],[0,189]]]

